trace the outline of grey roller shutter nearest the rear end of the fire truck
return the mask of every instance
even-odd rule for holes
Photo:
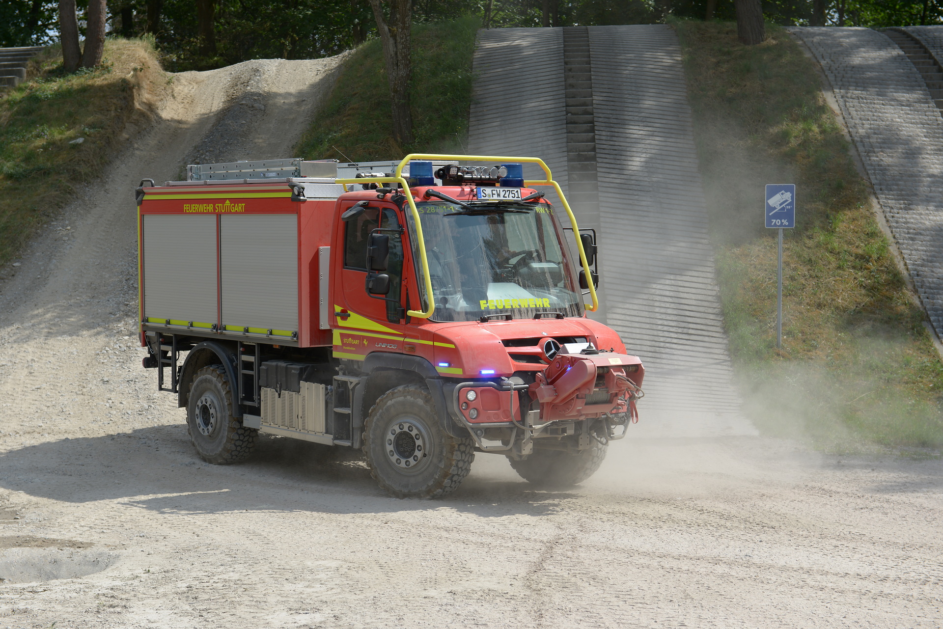
[[[144,316],[209,327],[217,316],[216,217],[145,214]]]

